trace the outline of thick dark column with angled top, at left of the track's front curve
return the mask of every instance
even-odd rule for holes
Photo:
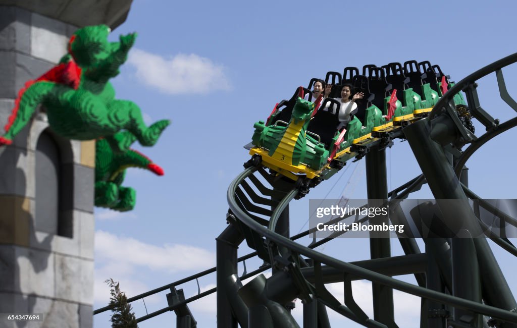
[[[237,328],[237,324],[248,327],[248,307],[237,295],[242,287],[237,273],[237,247],[243,240],[234,224],[216,239],[218,328]]]

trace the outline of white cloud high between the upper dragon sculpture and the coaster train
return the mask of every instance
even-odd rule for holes
[[[165,58],[133,48],[128,63],[145,84],[171,95],[230,90],[225,68],[196,54]]]

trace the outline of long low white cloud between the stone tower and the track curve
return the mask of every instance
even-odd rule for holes
[[[213,267],[216,257],[200,247],[181,244],[156,246],[98,230],[95,232],[95,258],[174,273]]]

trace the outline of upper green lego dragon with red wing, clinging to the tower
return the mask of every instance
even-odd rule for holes
[[[68,54],[60,63],[36,80],[28,81],[19,92],[14,108],[0,136],[0,145],[13,138],[31,120],[39,104],[45,106],[50,127],[63,137],[90,140],[104,137],[116,152],[129,149],[130,138],[117,134],[127,130],[141,145],[153,146],[169,120],[147,127],[140,108],[131,101],[115,99],[108,82],[119,73],[136,34],[108,42],[106,25],[78,29],[68,43]]]

